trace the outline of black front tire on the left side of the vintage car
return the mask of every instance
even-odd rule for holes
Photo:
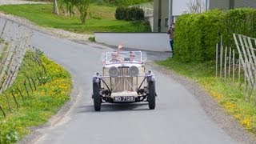
[[[94,110],[100,111],[101,105],[102,105],[102,99],[99,94],[99,83],[98,82],[94,82],[93,91],[94,91]]]

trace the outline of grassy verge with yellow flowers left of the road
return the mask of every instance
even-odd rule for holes
[[[6,114],[4,118],[0,111],[0,143],[16,142],[30,134],[31,126],[45,123],[69,100],[71,85],[70,74],[61,66],[28,51],[14,84],[0,94]]]

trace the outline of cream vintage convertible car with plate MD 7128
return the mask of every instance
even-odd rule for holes
[[[106,52],[102,74],[93,76],[94,110],[102,102],[148,102],[155,108],[155,78],[146,72],[141,51]]]

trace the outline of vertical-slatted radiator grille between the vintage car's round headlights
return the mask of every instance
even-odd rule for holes
[[[133,91],[133,77],[120,77],[129,75],[129,67],[118,67],[119,73],[117,78],[114,78],[114,92],[118,91]]]

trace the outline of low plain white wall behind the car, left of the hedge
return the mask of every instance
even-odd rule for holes
[[[170,51],[170,39],[166,33],[94,33],[95,41],[110,46],[120,43],[126,48],[150,51]]]

